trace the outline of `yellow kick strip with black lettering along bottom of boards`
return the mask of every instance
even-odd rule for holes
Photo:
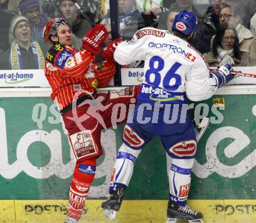
[[[102,215],[101,202],[88,200],[81,222],[111,222]],[[64,222],[67,213],[66,203],[66,200],[1,200],[0,222]],[[205,223],[240,223],[256,220],[255,200],[190,200],[189,204],[201,211]],[[166,206],[165,200],[125,200],[114,222],[166,222]]]

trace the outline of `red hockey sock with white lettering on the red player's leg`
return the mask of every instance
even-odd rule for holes
[[[67,215],[80,219],[91,183],[96,171],[96,159],[84,160],[76,164],[69,191],[69,211]]]

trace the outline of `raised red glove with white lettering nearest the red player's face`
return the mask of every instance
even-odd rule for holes
[[[91,28],[90,31],[82,39],[82,46],[93,55],[98,55],[101,52],[101,45],[108,37],[108,31],[102,24],[98,24]]]

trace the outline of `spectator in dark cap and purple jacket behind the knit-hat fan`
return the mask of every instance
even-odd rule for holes
[[[20,13],[29,20],[32,38],[43,42],[42,30],[48,19],[44,14],[40,15],[39,0],[22,0],[19,8]]]

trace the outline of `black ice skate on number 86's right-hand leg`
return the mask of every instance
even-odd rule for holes
[[[167,223],[175,223],[178,219],[187,220],[189,223],[203,223],[202,214],[193,211],[189,206],[179,206],[174,202],[168,202]]]

